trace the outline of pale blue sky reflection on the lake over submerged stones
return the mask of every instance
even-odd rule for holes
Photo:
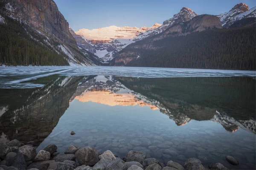
[[[71,136],[71,130],[76,135]],[[91,145],[100,153],[112,150],[120,157],[129,150],[140,150],[165,164],[169,160],[183,164],[197,157],[206,166],[221,162],[239,169],[225,161],[226,155],[232,155],[241,162],[240,168],[255,166],[254,133],[241,128],[230,133],[212,121],[192,120],[177,126],[169,116],[148,106],[109,106],[74,99],[37,150],[50,143],[57,144],[61,153],[72,144]]]

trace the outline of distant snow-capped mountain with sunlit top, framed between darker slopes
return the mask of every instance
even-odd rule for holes
[[[109,26],[97,29],[79,29],[75,33],[81,36],[85,42],[92,45],[95,49],[95,55],[103,59],[105,62],[114,58],[115,54],[122,50],[128,44],[140,40],[138,37],[143,35],[146,31],[151,31],[158,28],[160,24],[155,23],[150,28],[148,27],[118,27]],[[74,37],[77,41],[79,37]],[[81,48],[87,48],[80,46]]]

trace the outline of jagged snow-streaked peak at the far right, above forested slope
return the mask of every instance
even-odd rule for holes
[[[221,20],[222,27],[229,28],[237,20],[256,17],[256,7],[249,9],[244,3],[236,4],[229,12],[217,15]]]

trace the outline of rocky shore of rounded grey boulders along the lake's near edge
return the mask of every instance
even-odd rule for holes
[[[232,156],[226,160],[233,165],[239,162]],[[172,160],[167,165],[155,158],[146,158],[140,151],[130,150],[126,158],[119,158],[110,150],[98,153],[94,147],[70,146],[65,154],[58,153],[55,144],[36,151],[35,142],[23,144],[17,139],[0,144],[0,170],[206,170],[196,158],[187,159],[181,165]],[[209,165],[210,170],[228,170],[221,163]]]

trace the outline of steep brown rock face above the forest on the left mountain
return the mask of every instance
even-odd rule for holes
[[[3,3],[3,14],[30,26],[36,34],[46,39],[42,42],[44,45],[63,53],[70,65],[93,65],[90,59],[81,54],[69,31],[69,23],[53,0],[3,0]]]

